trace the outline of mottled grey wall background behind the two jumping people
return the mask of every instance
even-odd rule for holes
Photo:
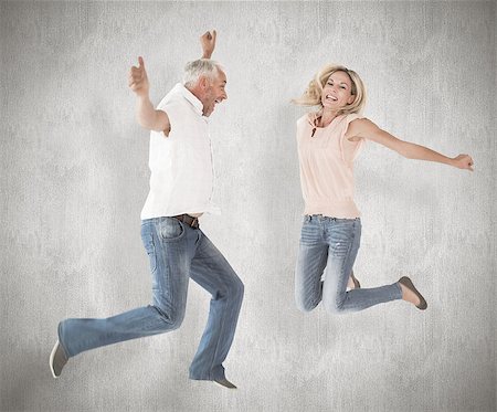
[[[1,2],[2,411],[495,411],[495,2]],[[202,226],[246,285],[225,362],[240,385],[188,380],[209,296],[180,330],[83,353],[53,380],[65,317],[150,302],[139,236],[155,103],[219,31],[229,101],[211,120],[220,216]],[[332,317],[294,304],[303,201],[289,104],[328,62],[359,72],[366,115],[476,171],[368,144],[357,161],[363,286],[410,275],[395,302]]]

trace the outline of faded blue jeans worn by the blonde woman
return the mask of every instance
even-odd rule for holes
[[[295,271],[295,299],[300,310],[313,310],[322,300],[327,311],[340,314],[402,298],[398,283],[347,292],[360,239],[359,218],[304,218]]]

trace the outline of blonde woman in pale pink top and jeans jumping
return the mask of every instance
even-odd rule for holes
[[[353,202],[353,159],[366,139],[408,159],[437,161],[459,169],[473,170],[473,159],[468,155],[448,158],[400,140],[362,117],[362,81],[356,72],[340,65],[324,67],[294,103],[320,107],[297,120],[305,201],[295,274],[298,308],[309,311],[322,300],[329,313],[339,314],[403,299],[426,309],[426,300],[409,277],[364,289],[353,276],[361,236],[360,213]]]

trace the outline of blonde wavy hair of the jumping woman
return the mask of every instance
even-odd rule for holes
[[[352,83],[351,94],[356,96],[351,104],[346,105],[340,109],[340,113],[341,114],[360,113],[366,105],[364,84],[362,83],[361,78],[355,71],[349,70],[339,64],[329,64],[322,67],[318,73],[316,73],[314,80],[310,81],[304,94],[298,98],[294,98],[292,103],[300,106],[322,107],[321,103],[322,88],[325,87],[325,84],[328,81],[329,76],[335,72],[343,72],[348,74]]]

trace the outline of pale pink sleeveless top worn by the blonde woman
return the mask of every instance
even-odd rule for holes
[[[345,135],[350,122],[362,116],[340,115],[326,127],[315,127],[313,117],[307,114],[297,120],[304,214],[359,218],[353,201],[353,160],[363,139],[350,141]]]

